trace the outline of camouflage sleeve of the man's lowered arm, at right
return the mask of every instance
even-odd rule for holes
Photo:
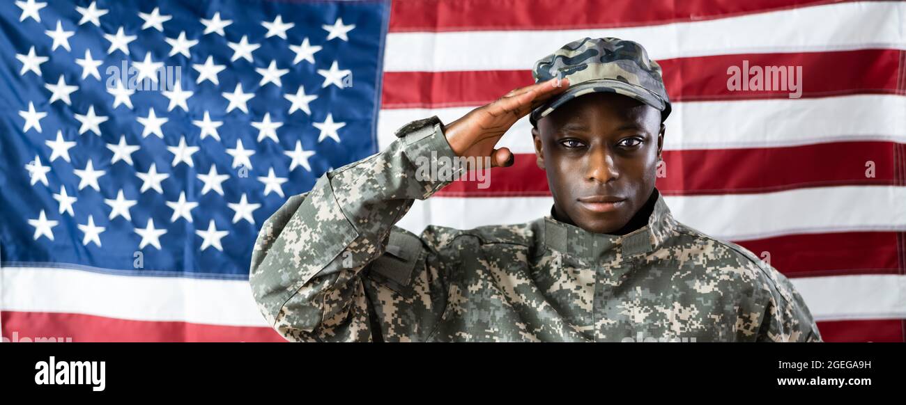
[[[771,270],[773,283],[766,288],[766,310],[758,342],[823,342],[805,300],[782,273]]]

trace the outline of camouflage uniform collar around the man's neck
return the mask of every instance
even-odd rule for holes
[[[658,193],[658,200],[648,217],[648,224],[622,236],[585,231],[557,221],[548,214],[544,218],[545,246],[590,259],[601,259],[613,251],[617,251],[622,258],[631,259],[658,250],[676,228],[676,220],[670,214],[663,195],[656,189],[655,193]]]

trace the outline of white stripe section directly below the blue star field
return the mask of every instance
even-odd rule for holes
[[[245,280],[116,276],[70,268],[0,268],[5,311],[137,321],[269,326]]]

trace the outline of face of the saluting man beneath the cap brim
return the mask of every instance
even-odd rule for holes
[[[654,190],[663,146],[660,111],[615,93],[570,100],[532,129],[557,216],[585,231],[612,233]]]

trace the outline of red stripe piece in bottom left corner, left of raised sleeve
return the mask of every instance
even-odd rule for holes
[[[286,342],[269,327],[188,322],[131,321],[82,314],[4,311],[3,336],[10,341],[59,338],[65,342]],[[27,339],[27,340],[26,340]]]

